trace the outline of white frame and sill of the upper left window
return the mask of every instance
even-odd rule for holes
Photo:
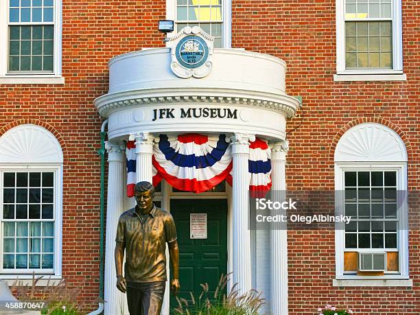
[[[5,5],[4,5],[5,4]],[[10,1],[0,5],[0,84],[64,84],[62,77],[62,0],[54,0],[54,71],[53,73],[8,73],[8,27]],[[33,23],[33,25],[42,23]]]

